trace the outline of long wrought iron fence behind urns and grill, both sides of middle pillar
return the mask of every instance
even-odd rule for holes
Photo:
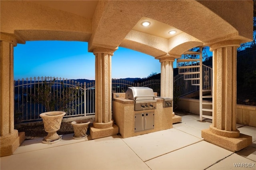
[[[150,87],[160,95],[160,80],[134,83],[125,79],[112,79],[112,93],[125,93],[128,87]],[[46,106],[36,100],[36,95],[43,95],[39,89],[48,87],[48,97],[52,103],[65,104],[66,115],[75,117],[95,114],[95,83],[79,82],[58,77],[30,77],[14,81],[14,117],[15,123],[41,120],[40,113],[46,112]],[[75,94],[75,95],[74,95]],[[44,94],[45,95],[45,94]],[[68,98],[72,97],[72,99]],[[64,98],[65,97],[65,98]],[[56,107],[58,107],[56,105]],[[57,109],[55,107],[55,109]]]

